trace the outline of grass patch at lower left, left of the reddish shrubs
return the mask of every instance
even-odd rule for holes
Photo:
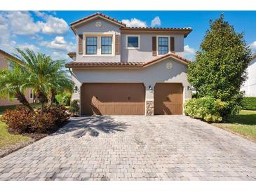
[[[29,141],[30,139],[22,135],[11,135],[7,130],[7,125],[0,121],[0,151],[8,148],[8,146]]]

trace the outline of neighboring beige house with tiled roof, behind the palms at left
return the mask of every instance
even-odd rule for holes
[[[14,61],[19,64],[22,64],[22,61],[18,60],[18,58],[13,57],[13,55],[6,53],[4,50],[0,49],[0,70],[1,69],[13,70],[13,66],[10,61]],[[29,103],[36,102],[34,100],[34,94],[31,89],[28,89],[25,91],[25,97]],[[13,100],[11,100],[10,97],[0,98],[0,106],[8,106],[8,105],[15,105],[15,104],[20,104],[20,102],[16,98],[14,98]]]

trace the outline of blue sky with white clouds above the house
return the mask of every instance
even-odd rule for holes
[[[69,23],[95,12],[123,20],[128,26],[191,27],[193,31],[184,40],[185,57],[193,59],[209,20],[220,17],[234,25],[236,32],[244,32],[245,41],[256,51],[256,11],[1,11],[0,48],[13,53],[13,48],[31,48],[66,59],[74,51],[74,34]]]

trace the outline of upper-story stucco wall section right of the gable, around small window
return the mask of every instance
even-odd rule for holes
[[[152,55],[152,36],[160,36],[159,34],[138,34],[140,35],[140,49],[126,48],[126,35],[121,34],[121,62],[145,62],[156,58]],[[163,36],[166,36],[163,34]],[[183,56],[184,52],[184,36],[182,34],[172,34],[175,38],[175,53]]]

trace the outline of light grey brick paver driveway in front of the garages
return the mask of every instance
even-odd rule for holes
[[[255,180],[256,144],[187,116],[73,118],[0,159],[1,180]]]

